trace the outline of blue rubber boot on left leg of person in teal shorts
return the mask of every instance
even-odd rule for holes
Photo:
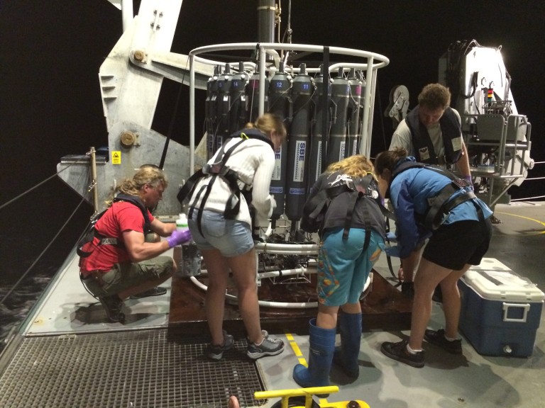
[[[335,351],[336,329],[322,329],[311,319],[309,331],[309,368],[297,364],[293,368],[293,379],[303,388],[329,385],[329,370]]]

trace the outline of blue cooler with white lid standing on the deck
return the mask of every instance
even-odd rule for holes
[[[485,258],[458,281],[460,331],[484,356],[532,356],[545,294],[529,279]]]

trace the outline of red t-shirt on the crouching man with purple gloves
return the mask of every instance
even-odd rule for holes
[[[155,218],[148,211],[150,222]],[[144,217],[140,208],[126,201],[118,201],[97,221],[95,228],[104,237],[117,238],[123,242],[123,232],[136,231],[144,233]],[[86,258],[79,259],[81,271],[109,271],[114,263],[129,262],[126,249],[116,245],[99,245],[99,239],[84,245],[84,251],[92,251]]]

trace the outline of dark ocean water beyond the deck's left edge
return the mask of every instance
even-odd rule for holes
[[[16,191],[13,197],[3,194],[0,205],[20,193]],[[81,199],[64,183],[51,179],[0,208],[0,351],[87,225],[92,207],[80,203]]]

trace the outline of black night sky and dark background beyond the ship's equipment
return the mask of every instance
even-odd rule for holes
[[[138,12],[139,1],[134,11]],[[185,0],[172,52],[257,40],[257,1]],[[282,1],[282,30],[288,0]],[[390,58],[378,72],[375,119],[393,86],[403,84],[412,108],[422,86],[438,80],[439,57],[456,40],[502,45],[519,113],[532,122],[532,157],[544,161],[545,2],[527,1],[292,1],[292,42],[351,47]],[[107,145],[98,72],[121,35],[121,12],[106,0],[0,1],[0,206],[55,174],[60,157]],[[165,84],[154,128],[166,134],[177,84]],[[175,114],[175,140],[187,140],[188,89]],[[376,123],[376,121],[375,121]],[[199,128],[197,123],[197,129]],[[387,148],[392,123],[373,129],[373,152]],[[536,171],[530,176],[543,176]],[[530,184],[532,183],[532,184]],[[512,195],[543,195],[527,181]],[[24,273],[79,204],[53,177],[0,208],[0,279]],[[92,214],[80,207],[35,270],[60,266]]]

